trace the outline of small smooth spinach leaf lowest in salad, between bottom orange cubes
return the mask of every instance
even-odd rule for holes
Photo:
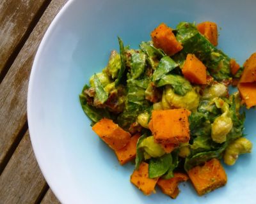
[[[172,154],[164,154],[164,156],[151,158],[148,164],[148,177],[154,179],[161,177],[172,165]]]

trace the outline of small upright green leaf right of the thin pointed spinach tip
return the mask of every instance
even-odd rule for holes
[[[144,72],[146,66],[146,54],[135,52],[131,56],[131,77],[136,79]]]

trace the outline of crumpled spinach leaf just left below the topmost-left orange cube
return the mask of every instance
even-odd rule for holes
[[[147,54],[148,64],[150,64],[153,69],[156,69],[159,59],[166,55],[164,54],[163,50],[154,47],[152,41],[142,41],[140,43],[140,48],[143,52],[145,52],[145,54]]]

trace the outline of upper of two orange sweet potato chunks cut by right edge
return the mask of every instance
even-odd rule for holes
[[[244,71],[239,83],[256,82],[256,52],[244,62]]]

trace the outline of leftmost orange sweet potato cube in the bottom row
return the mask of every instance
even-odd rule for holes
[[[134,170],[131,175],[131,183],[138,187],[145,195],[150,195],[155,191],[155,186],[158,178],[148,178],[148,164],[143,162],[138,170]]]

